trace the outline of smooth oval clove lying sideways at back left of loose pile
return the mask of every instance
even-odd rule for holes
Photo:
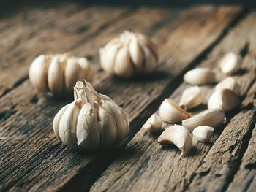
[[[184,81],[191,85],[202,85],[215,82],[215,74],[211,69],[200,67],[184,74]]]

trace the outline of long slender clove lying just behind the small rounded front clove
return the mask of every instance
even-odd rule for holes
[[[192,131],[197,126],[217,127],[225,120],[225,113],[219,109],[206,110],[192,116],[187,120],[182,120],[182,126]]]

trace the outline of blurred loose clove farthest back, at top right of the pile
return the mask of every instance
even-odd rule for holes
[[[241,57],[233,52],[227,53],[219,61],[219,67],[225,74],[233,74],[240,69]]]

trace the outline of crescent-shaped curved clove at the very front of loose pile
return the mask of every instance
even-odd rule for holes
[[[181,150],[181,158],[187,156],[193,147],[192,137],[184,126],[170,126],[162,132],[157,141],[160,145],[174,144]]]

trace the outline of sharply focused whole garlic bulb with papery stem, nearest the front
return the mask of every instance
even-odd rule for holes
[[[89,82],[78,81],[75,101],[56,114],[53,130],[65,145],[79,150],[98,150],[127,136],[127,114],[108,96],[97,93]]]

